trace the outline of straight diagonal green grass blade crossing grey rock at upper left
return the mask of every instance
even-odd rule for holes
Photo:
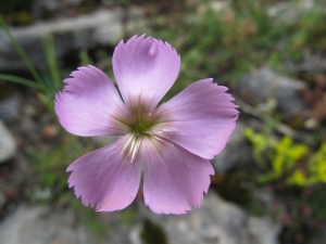
[[[11,35],[5,22],[3,21],[2,16],[0,15],[0,26],[2,26],[4,33],[7,34],[7,36],[9,37],[11,43],[14,46],[14,48],[16,49],[16,51],[18,52],[18,54],[21,55],[22,60],[24,61],[25,65],[27,66],[27,68],[29,69],[30,74],[33,75],[34,79],[40,85],[42,86],[42,79],[39,76],[39,74],[37,73],[37,70],[35,69],[34,65],[32,64],[32,62],[29,61],[29,59],[27,57],[26,53],[24,52],[24,50],[22,49],[22,47],[20,46],[20,43],[16,41],[16,39]]]

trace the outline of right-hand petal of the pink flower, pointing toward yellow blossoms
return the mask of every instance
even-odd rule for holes
[[[227,88],[212,79],[197,81],[158,108],[160,121],[152,129],[172,128],[164,136],[203,158],[211,159],[225,146],[235,129],[238,112]]]

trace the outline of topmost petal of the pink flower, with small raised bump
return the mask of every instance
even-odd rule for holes
[[[133,37],[121,41],[113,54],[113,72],[124,102],[152,112],[176,80],[180,57],[168,44],[154,38]]]

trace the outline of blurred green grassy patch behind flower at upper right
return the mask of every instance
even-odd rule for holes
[[[192,12],[168,16],[171,21],[151,16],[155,30],[149,34],[174,43],[183,60],[179,78],[185,82],[173,93],[204,77],[225,82],[262,65],[281,69],[286,61],[300,62],[303,49],[326,49],[326,14],[319,3],[285,21],[286,13],[268,14],[266,1],[233,1],[220,11],[210,2],[198,2]]]

